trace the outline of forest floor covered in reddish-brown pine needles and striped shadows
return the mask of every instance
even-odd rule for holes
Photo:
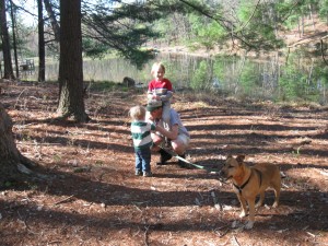
[[[191,134],[187,160],[219,171],[227,154],[278,165],[253,230],[231,184],[175,160],[134,176],[128,110],[144,92],[89,92],[92,121],[56,121],[57,84],[12,84],[0,95],[16,145],[39,178],[0,190],[0,245],[328,245],[328,108],[180,93],[173,105]],[[40,178],[44,177],[44,178]],[[234,225],[234,226],[232,226]]]

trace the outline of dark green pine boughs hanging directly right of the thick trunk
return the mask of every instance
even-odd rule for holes
[[[141,68],[153,58],[153,54],[142,50],[141,46],[159,36],[150,23],[159,17],[159,8],[148,3],[120,3],[116,8],[105,3],[94,5],[82,19],[85,55],[99,57],[116,52]]]

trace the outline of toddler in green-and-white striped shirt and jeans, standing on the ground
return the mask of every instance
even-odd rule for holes
[[[144,177],[152,176],[151,173],[151,147],[153,140],[151,131],[156,130],[154,124],[145,121],[145,108],[143,106],[134,106],[130,108],[131,134],[136,155],[136,175]]]

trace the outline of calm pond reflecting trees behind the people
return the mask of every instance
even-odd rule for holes
[[[236,97],[328,104],[328,68],[320,60],[290,56],[285,62],[281,57],[273,56],[256,61],[238,57],[201,58],[174,54],[160,54],[156,60],[164,62],[166,77],[177,91],[210,90]],[[84,80],[121,82],[125,77],[130,77],[147,86],[152,79],[150,70],[153,62],[154,60],[138,70],[121,58],[86,60],[83,63]],[[58,63],[48,65],[46,80],[56,81],[58,70]],[[22,79],[37,79],[37,74],[22,75]]]

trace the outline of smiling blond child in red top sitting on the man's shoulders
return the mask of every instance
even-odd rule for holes
[[[149,101],[162,101],[163,103],[163,115],[162,119],[164,127],[169,126],[169,108],[171,97],[173,96],[173,86],[168,79],[164,78],[165,67],[161,62],[155,62],[152,67],[151,74],[153,80],[148,85],[148,99]]]

